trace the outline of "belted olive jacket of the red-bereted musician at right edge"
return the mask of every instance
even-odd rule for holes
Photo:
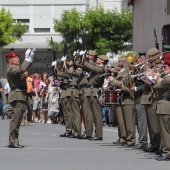
[[[156,114],[170,115],[170,101],[160,99],[161,97],[167,97],[170,99],[170,77],[168,76],[159,84],[154,85],[153,89],[158,92]]]

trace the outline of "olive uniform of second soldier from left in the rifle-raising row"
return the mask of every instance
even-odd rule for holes
[[[65,73],[71,76],[71,82],[68,85],[67,96],[70,105],[70,114],[72,120],[72,126],[74,130],[73,136],[81,136],[81,117],[80,117],[80,103],[79,103],[79,90],[77,80],[81,74],[80,70],[65,70]]]

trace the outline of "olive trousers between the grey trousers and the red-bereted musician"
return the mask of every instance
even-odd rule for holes
[[[160,130],[158,124],[158,116],[156,115],[156,109],[153,109],[151,105],[145,105],[148,131],[150,136],[151,147],[160,147]]]

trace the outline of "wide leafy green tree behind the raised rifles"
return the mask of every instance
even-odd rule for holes
[[[64,11],[60,20],[54,20],[54,29],[60,32],[64,42],[72,44],[74,51],[76,39],[82,39],[86,49],[95,49],[100,54],[130,50],[126,45],[132,38],[132,10],[89,9],[79,13],[76,9]],[[62,42],[63,43],[63,42]],[[80,41],[81,50],[83,48]],[[61,49],[60,49],[61,50]]]

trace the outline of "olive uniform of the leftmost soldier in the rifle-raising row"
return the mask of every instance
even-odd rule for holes
[[[70,76],[68,74],[66,74],[63,71],[57,71],[57,76],[64,78],[67,83],[62,83],[62,91],[61,91],[61,95],[60,95],[60,100],[61,100],[61,106],[62,106],[62,110],[63,110],[63,115],[64,115],[64,123],[65,123],[65,127],[66,127],[66,136],[67,134],[72,134],[73,131],[73,125],[72,125],[72,120],[71,120],[71,114],[70,114],[70,105],[69,105],[69,101],[68,101],[68,78],[70,78]],[[64,137],[65,137],[64,135]],[[62,135],[60,135],[62,137]]]

